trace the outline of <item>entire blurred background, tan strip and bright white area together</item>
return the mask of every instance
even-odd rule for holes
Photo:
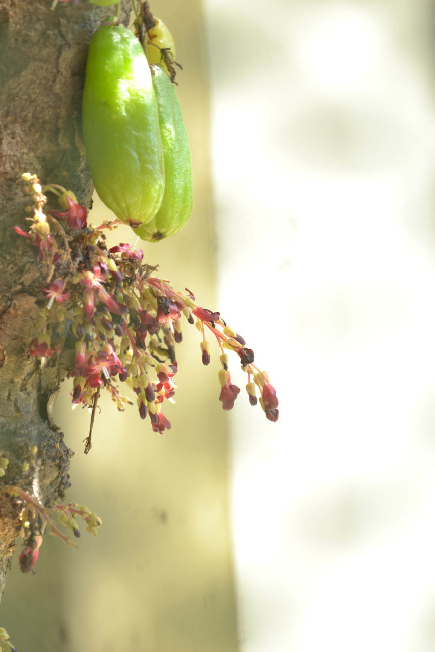
[[[67,499],[103,526],[47,537],[33,577],[15,559],[1,624],[20,652],[432,652],[434,5],[151,5],[195,211],[146,257],[244,336],[280,421],[236,360],[222,411],[187,326],[163,436],[103,404],[84,456],[65,383]]]

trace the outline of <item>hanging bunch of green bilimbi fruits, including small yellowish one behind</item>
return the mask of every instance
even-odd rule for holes
[[[156,20],[157,42],[150,35],[144,43],[148,56],[158,59],[152,68],[129,29],[97,29],[83,95],[83,136],[95,188],[122,222],[150,242],[180,231],[193,205],[189,143],[168,74],[173,40]]]

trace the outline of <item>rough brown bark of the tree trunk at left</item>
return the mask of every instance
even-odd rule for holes
[[[44,184],[71,188],[90,207],[93,186],[80,133],[84,69],[91,35],[112,11],[86,0],[56,10],[51,4],[0,0],[0,457],[8,460],[0,478],[0,597],[20,512],[5,488],[18,485],[50,507],[65,494],[73,454],[50,417],[69,355],[41,366],[27,353],[42,328],[35,299],[41,279],[36,248],[12,228],[24,228],[29,203],[20,177],[29,171]],[[124,24],[130,6],[121,1]]]

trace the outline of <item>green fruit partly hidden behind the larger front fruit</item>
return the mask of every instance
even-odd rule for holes
[[[142,240],[159,242],[178,233],[187,222],[192,212],[193,182],[189,143],[175,86],[163,68],[152,68],[165,157],[165,193],[153,219],[135,232]]]

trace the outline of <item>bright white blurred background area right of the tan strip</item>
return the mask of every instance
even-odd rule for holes
[[[433,651],[434,7],[205,5],[240,649]]]

